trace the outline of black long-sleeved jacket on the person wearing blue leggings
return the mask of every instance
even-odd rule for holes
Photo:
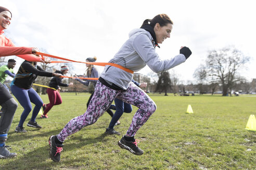
[[[30,89],[37,76],[53,77],[53,73],[45,72],[42,67],[33,62],[24,61],[16,74],[13,83],[22,89]]]

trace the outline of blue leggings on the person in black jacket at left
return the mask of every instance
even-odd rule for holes
[[[11,92],[17,98],[20,105],[24,108],[20,116],[20,122],[18,126],[19,127],[23,126],[24,121],[27,119],[30,111],[32,110],[31,102],[35,104],[35,107],[33,109],[32,117],[30,121],[34,122],[41,107],[43,106],[43,101],[41,97],[36,93],[36,91],[33,88],[21,89],[15,85],[11,86]]]

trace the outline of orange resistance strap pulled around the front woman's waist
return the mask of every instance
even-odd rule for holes
[[[74,60],[70,60],[70,59],[65,59],[65,58],[61,58],[59,56],[55,56],[55,55],[50,55],[50,54],[46,54],[43,52],[36,52],[37,55],[41,55],[42,58],[44,58],[44,56],[49,56],[50,58],[55,58],[55,59],[60,59],[60,60],[66,60],[66,61],[70,61],[70,62],[76,62],[76,63],[84,63],[84,64],[92,64],[92,65],[99,65],[99,66],[105,66],[105,65],[111,65],[117,68],[120,68],[122,70],[125,70],[125,72],[128,73],[134,73],[133,70],[125,68],[121,65],[118,64],[114,64],[114,63],[98,63],[98,62],[81,62],[81,61],[74,61]],[[63,63],[62,61],[52,61],[52,63]]]

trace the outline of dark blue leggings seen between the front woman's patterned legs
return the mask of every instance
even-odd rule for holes
[[[116,112],[114,112],[114,115],[109,123],[109,129],[113,129],[114,124],[117,123],[119,118],[123,115],[123,112],[130,113],[133,110],[132,105],[124,103],[118,98],[114,99],[114,104],[116,105]]]

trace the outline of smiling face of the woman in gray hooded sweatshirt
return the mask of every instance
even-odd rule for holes
[[[168,23],[165,26],[160,26],[159,23],[156,23],[154,31],[156,33],[157,43],[162,44],[165,39],[170,38],[172,24]]]

